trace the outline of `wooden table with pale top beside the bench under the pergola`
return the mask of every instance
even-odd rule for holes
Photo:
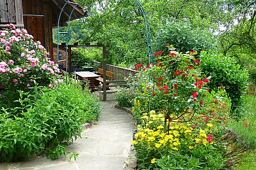
[[[77,71],[75,72],[75,76],[78,80],[88,80],[90,90],[95,90],[95,87],[99,85],[99,82],[96,81],[96,78],[100,77],[100,75],[90,72],[90,71]]]

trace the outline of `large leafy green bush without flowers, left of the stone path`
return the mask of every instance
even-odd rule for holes
[[[34,154],[57,158],[77,138],[84,122],[98,120],[99,101],[75,85],[20,91],[20,107],[1,108],[0,160],[23,160]],[[17,116],[18,115],[18,116]]]

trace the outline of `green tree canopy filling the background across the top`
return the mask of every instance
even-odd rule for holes
[[[244,57],[256,57],[255,1],[143,0],[141,3],[151,23],[154,44],[159,41],[160,34],[169,29],[169,23],[174,23],[172,27],[178,23],[176,30],[184,27],[192,30],[182,36],[185,45],[194,41],[192,46],[201,44],[203,49],[200,50],[219,50],[226,56],[236,57],[238,62]],[[146,32],[136,1],[82,0],[80,5],[93,15],[72,22],[71,43],[100,42],[107,45],[108,63],[111,64],[130,66],[146,61]],[[191,36],[195,38],[191,39]],[[172,42],[180,41],[173,34],[169,38],[174,38]],[[202,38],[209,40],[211,45],[202,45]],[[153,48],[154,51],[160,50]]]

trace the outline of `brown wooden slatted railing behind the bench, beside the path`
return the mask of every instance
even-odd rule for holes
[[[96,65],[98,68],[102,68],[101,62],[94,62],[94,65]],[[106,64],[106,69],[114,73],[114,76],[111,80],[125,80],[129,76],[134,76],[136,73],[139,73],[139,71],[110,64]]]

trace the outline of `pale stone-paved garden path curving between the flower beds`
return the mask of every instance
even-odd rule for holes
[[[33,157],[25,162],[0,163],[1,170],[103,170],[131,169],[129,158],[134,122],[128,113],[115,108],[115,101],[105,101],[101,105],[99,121],[82,132],[68,150],[79,153],[77,160],[68,157],[47,160]]]

